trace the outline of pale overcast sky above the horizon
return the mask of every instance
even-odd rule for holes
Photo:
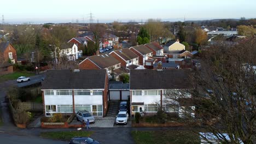
[[[256,17],[255,0],[3,0],[5,22],[183,21]]]

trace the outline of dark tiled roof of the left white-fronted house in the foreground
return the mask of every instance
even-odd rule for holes
[[[48,70],[42,89],[104,89],[106,70]]]

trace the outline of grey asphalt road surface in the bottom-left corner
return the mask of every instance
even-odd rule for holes
[[[50,140],[44,139],[42,137],[37,136],[21,136],[21,135],[11,135],[11,134],[4,134],[0,133],[0,140],[1,143],[8,143],[8,144],[27,144],[27,143],[37,143],[37,144],[62,144],[68,143],[67,141],[57,141],[57,140]]]

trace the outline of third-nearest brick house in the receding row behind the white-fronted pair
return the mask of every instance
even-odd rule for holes
[[[149,57],[153,55],[153,52],[149,50],[147,46],[137,45],[132,46],[129,49],[139,56],[139,65],[152,65],[152,63],[146,63]]]

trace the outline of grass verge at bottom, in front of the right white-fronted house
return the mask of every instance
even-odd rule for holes
[[[132,131],[132,137],[136,144],[183,144],[200,143],[199,135],[192,131]]]

